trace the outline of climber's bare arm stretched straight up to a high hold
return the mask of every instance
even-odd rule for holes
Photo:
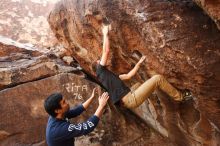
[[[103,47],[102,47],[102,57],[100,64],[102,66],[105,66],[108,60],[109,48],[110,48],[110,42],[108,38],[108,26],[103,27],[102,33],[103,33]]]

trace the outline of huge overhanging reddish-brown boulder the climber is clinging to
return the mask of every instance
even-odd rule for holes
[[[176,103],[158,91],[135,112],[177,145],[219,145],[220,32],[215,23],[190,0],[63,0],[48,18],[58,40],[91,74],[91,63],[101,56],[105,19],[113,28],[109,69],[128,72],[147,55],[128,85],[160,73],[196,97]]]

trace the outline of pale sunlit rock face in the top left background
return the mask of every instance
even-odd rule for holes
[[[56,43],[47,22],[58,0],[1,0],[0,35],[20,43],[50,47]]]

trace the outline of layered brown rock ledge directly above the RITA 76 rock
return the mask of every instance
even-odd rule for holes
[[[23,47],[23,48],[21,48]],[[76,72],[55,55],[0,42],[0,89],[39,80],[58,73]]]

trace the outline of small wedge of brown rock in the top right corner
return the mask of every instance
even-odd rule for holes
[[[194,0],[216,23],[220,29],[220,0]]]

